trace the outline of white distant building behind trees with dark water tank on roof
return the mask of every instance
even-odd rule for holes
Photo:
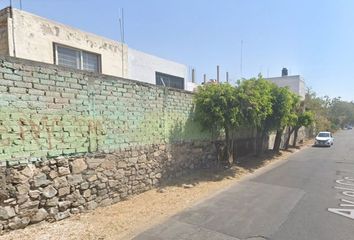
[[[273,82],[279,87],[288,87],[293,93],[299,95],[302,100],[305,99],[305,81],[300,75],[289,76],[286,68],[282,69],[281,77],[265,78],[265,80]]]

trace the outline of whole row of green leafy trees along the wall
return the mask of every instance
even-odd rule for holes
[[[315,119],[311,112],[304,112],[299,96],[288,88],[281,88],[264,80],[261,75],[238,81],[236,86],[201,86],[194,101],[196,119],[201,125],[206,129],[221,130],[225,133],[225,156],[229,159],[232,155],[232,134],[241,126],[257,130],[255,146],[258,154],[262,152],[265,136],[271,131],[277,131],[278,141],[274,148],[279,149],[279,140],[286,126],[291,128],[291,133],[295,131],[297,134],[301,126],[309,126]],[[317,106],[318,103],[313,105]],[[289,139],[290,134],[287,145]]]

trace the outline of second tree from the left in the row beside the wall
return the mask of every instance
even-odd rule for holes
[[[256,129],[256,154],[263,151],[263,143],[268,133],[266,119],[272,114],[273,84],[263,79],[251,78],[239,82],[236,94],[239,99],[241,125]]]

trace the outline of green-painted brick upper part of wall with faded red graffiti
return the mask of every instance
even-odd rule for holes
[[[0,162],[207,140],[193,95],[0,57]]]

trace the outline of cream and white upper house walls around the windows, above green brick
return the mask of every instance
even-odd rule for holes
[[[6,11],[9,12],[10,8]],[[118,41],[15,8],[12,9],[12,17],[11,14],[5,14],[6,11],[3,11],[1,16],[3,21],[7,20],[7,26],[4,24],[5,29],[0,28],[0,37],[2,36],[4,41],[8,40],[8,46],[2,45],[3,52],[9,53],[10,56],[56,64],[54,44],[59,44],[99,54],[101,73],[106,75],[156,84],[155,73],[161,72],[183,78],[185,90],[193,91],[196,87],[195,83],[190,82],[189,69],[184,64],[131,49]],[[5,34],[6,28],[8,34]]]

